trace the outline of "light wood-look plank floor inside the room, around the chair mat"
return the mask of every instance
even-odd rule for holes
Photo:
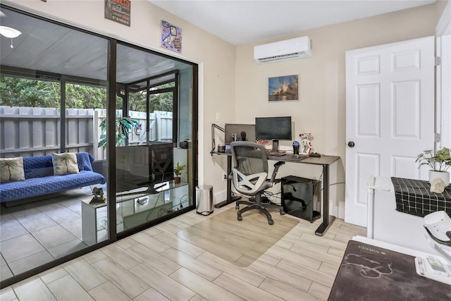
[[[4,288],[0,300],[327,300],[347,241],[366,236],[365,228],[335,219],[320,237],[314,231],[321,220],[299,219],[240,267],[176,235],[214,214],[190,211]],[[267,225],[264,216],[261,223]]]

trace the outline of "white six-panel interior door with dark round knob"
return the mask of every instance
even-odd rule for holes
[[[366,226],[371,176],[425,178],[434,147],[434,37],[346,52],[345,221]]]

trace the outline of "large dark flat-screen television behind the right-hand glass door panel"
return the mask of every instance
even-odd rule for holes
[[[156,184],[173,180],[173,144],[116,147],[116,192],[147,187],[156,193]]]

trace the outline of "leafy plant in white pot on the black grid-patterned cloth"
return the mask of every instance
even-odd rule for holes
[[[441,178],[445,185],[450,184],[450,173],[447,171],[451,166],[450,149],[443,147],[435,154],[432,149],[425,150],[416,157],[416,162],[420,162],[419,168],[423,165],[431,167],[429,171],[429,182],[435,178]]]

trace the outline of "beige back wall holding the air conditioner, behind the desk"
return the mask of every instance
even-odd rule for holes
[[[431,4],[237,47],[235,121],[253,123],[255,116],[292,116],[296,140],[299,140],[299,133],[311,132],[316,152],[342,158],[332,168],[331,183],[344,182],[345,51],[434,35],[442,9],[443,3]],[[253,48],[257,44],[304,35],[311,38],[311,59],[264,65],[258,65],[253,59]],[[299,75],[300,101],[268,103],[268,78],[294,74]],[[291,142],[285,142],[289,149],[290,145]],[[321,176],[321,168],[294,165],[280,168],[281,175]],[[344,199],[345,185],[332,186],[331,208],[340,217],[344,216]]]

